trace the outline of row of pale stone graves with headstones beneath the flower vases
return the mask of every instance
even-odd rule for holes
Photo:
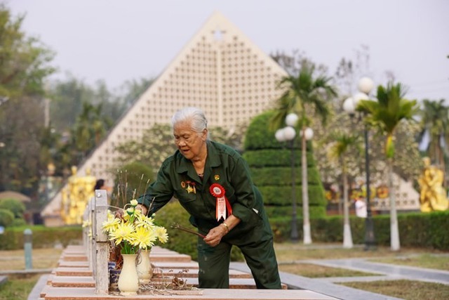
[[[199,289],[196,261],[186,254],[154,246],[146,254],[151,262],[150,278],[142,276],[138,291],[123,293],[117,288],[110,242],[102,230],[107,219],[107,194],[95,191],[84,218],[92,221],[91,233],[83,230],[83,244],[67,246],[58,266],[48,277],[38,300],[109,299],[316,299],[335,300],[307,289],[256,289],[250,273],[229,270],[229,289]]]

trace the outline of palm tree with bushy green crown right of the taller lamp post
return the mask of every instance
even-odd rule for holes
[[[403,86],[389,83],[387,88],[377,87],[377,101],[361,100],[356,110],[366,113],[366,122],[377,127],[380,133],[386,135],[385,155],[389,166],[389,198],[390,198],[390,238],[391,250],[401,249],[399,242],[398,216],[396,213],[396,195],[393,185],[393,159],[394,159],[394,131],[402,120],[412,120],[417,113],[416,100],[407,100],[403,97]]]

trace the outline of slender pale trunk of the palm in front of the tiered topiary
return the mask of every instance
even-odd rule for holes
[[[301,136],[301,171],[302,171],[302,231],[304,233],[304,244],[311,244],[310,221],[309,221],[309,184],[307,178],[307,141],[305,126],[302,126]]]

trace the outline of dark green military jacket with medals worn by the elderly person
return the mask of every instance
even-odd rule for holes
[[[192,225],[199,228],[199,232],[207,234],[211,228],[224,221],[216,219],[216,198],[209,190],[210,185],[218,183],[225,188],[232,214],[241,220],[224,239],[239,244],[236,243],[239,237],[245,242],[272,238],[262,197],[251,180],[246,162],[236,150],[227,145],[213,141],[206,143],[208,155],[202,180],[196,174],[192,162],[177,150],[163,162],[156,181],[149,185],[138,202],[150,207],[151,215],[175,197],[189,212]]]

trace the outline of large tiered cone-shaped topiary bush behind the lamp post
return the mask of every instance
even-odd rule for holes
[[[272,115],[272,111],[264,112],[252,120],[246,131],[243,157],[248,162],[255,185],[264,197],[268,216],[276,219],[292,215],[292,145],[276,141],[274,131],[269,128]],[[302,216],[300,138],[295,138],[293,151],[297,216]],[[310,217],[326,216],[326,197],[311,143],[307,144],[307,174]]]

